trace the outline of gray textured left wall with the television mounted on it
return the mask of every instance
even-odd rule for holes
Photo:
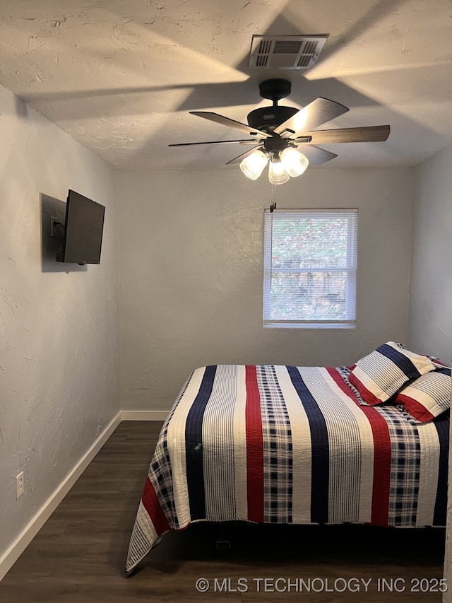
[[[114,170],[1,86],[0,131],[1,557],[119,411],[119,286]],[[42,255],[69,188],[107,206],[100,266]]]

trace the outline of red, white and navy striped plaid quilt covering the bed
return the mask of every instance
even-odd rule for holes
[[[446,525],[448,416],[360,406],[345,367],[213,365],[165,421],[126,572],[192,522]]]

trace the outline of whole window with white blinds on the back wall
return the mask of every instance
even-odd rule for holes
[[[264,216],[264,327],[355,327],[357,209]]]

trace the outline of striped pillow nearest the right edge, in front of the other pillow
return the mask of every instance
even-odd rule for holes
[[[427,423],[450,408],[451,393],[451,369],[438,368],[403,387],[396,403],[419,423]]]

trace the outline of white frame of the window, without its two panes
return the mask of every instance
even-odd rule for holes
[[[340,268],[272,268],[273,244],[273,218],[275,215],[282,218],[291,216],[312,216],[314,218],[347,217],[347,267]],[[355,236],[354,236],[355,235]],[[358,209],[266,209],[263,224],[263,327],[264,328],[291,328],[291,329],[355,329],[357,308],[357,244],[358,244]],[[299,274],[308,271],[347,272],[345,320],[275,320],[270,318],[271,312],[271,276],[272,272],[297,271]]]

